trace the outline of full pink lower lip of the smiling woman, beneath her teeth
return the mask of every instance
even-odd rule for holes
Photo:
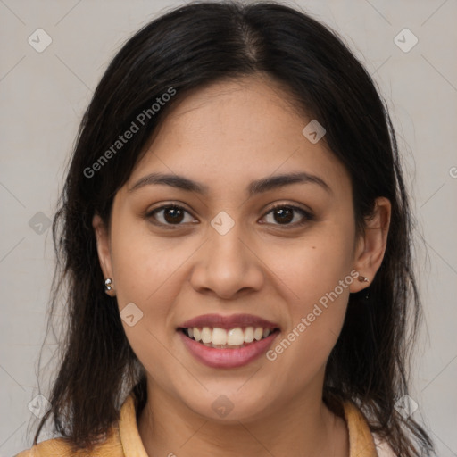
[[[247,365],[265,353],[278,334],[279,332],[275,331],[266,338],[238,349],[218,349],[197,343],[179,330],[180,337],[195,359],[212,368],[237,368]]]

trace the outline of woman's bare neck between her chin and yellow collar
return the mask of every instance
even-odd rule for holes
[[[349,457],[345,421],[321,395],[303,395],[254,420],[215,421],[190,410],[153,382],[138,419],[149,457]]]

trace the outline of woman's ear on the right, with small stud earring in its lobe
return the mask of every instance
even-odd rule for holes
[[[381,266],[386,252],[387,234],[390,226],[392,206],[386,197],[378,197],[370,218],[365,220],[364,234],[359,238],[354,252],[354,270],[368,278],[368,282],[353,281],[350,292],[359,292],[369,287]]]

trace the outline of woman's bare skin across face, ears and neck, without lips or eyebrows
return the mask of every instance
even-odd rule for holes
[[[344,288],[275,361],[262,355],[244,367],[213,369],[195,360],[176,331],[205,313],[251,313],[278,323],[274,348],[338,281],[352,270],[371,281],[382,262],[389,201],[378,198],[356,239],[349,175],[324,140],[303,136],[311,119],[288,100],[259,76],[186,96],[115,195],[110,226],[94,217],[109,294],[120,311],[133,302],[144,313],[132,327],[122,323],[147,372],[138,431],[151,457],[349,456],[345,421],[321,400],[323,376],[349,293],[370,283]],[[251,181],[297,171],[320,177],[330,191],[308,182],[248,197]],[[166,185],[129,190],[152,172],[186,176],[208,194]],[[169,212],[155,221],[171,228],[146,215],[164,204],[187,210],[181,225],[172,225]],[[314,218],[294,212],[284,223],[270,212],[273,204],[294,204]],[[211,225],[221,211],[235,222],[223,236]],[[223,418],[212,409],[220,395],[234,406]]]

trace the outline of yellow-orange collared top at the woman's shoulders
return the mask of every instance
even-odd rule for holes
[[[103,443],[95,445],[88,453],[82,449],[71,452],[71,445],[65,438],[52,438],[34,445],[14,457],[148,457],[137,428],[134,394],[131,393],[120,408],[120,420],[113,426]],[[353,404],[343,405],[345,422],[349,432],[350,457],[379,457],[391,455],[380,451],[375,445],[367,421]],[[378,452],[377,453],[377,449]],[[393,455],[393,454],[392,454]]]

